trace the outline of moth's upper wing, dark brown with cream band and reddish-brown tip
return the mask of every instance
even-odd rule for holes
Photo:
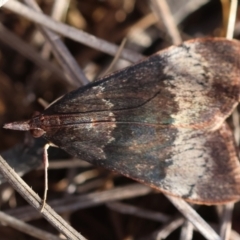
[[[190,40],[66,94],[45,114],[95,113],[102,121],[112,112],[122,122],[213,128],[239,101],[236,52],[238,41]]]

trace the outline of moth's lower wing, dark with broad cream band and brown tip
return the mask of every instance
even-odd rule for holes
[[[69,126],[45,138],[71,155],[193,203],[222,204],[240,197],[237,151],[226,124],[204,132],[99,123],[88,130]]]

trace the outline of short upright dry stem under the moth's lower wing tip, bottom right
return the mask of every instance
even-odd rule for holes
[[[232,212],[234,204],[228,203],[223,206],[221,224],[220,224],[220,236],[223,240],[230,239],[232,228]]]

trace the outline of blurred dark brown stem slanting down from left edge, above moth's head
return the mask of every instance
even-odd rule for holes
[[[30,47],[16,35],[8,31],[2,24],[0,24],[0,41],[33,61],[40,68],[47,69],[60,79],[64,78],[63,72],[57,66],[44,60],[34,48]]]

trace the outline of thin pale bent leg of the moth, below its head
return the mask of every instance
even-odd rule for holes
[[[49,167],[49,161],[48,161],[48,148],[49,147],[57,147],[56,145],[52,143],[45,144],[43,148],[43,166],[44,166],[44,193],[43,193],[43,201],[42,206],[40,208],[40,212],[43,211],[46,200],[47,200],[47,191],[48,191],[48,167]]]

